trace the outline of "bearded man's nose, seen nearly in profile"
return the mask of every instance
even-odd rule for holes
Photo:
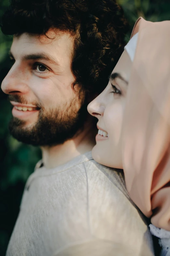
[[[29,91],[26,80],[26,74],[13,65],[2,81],[1,89],[5,94],[26,94]]]

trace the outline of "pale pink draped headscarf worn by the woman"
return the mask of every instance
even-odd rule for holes
[[[129,195],[158,228],[170,230],[170,21],[139,18],[122,127]]]

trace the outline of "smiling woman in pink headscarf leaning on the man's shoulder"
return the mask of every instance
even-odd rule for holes
[[[88,106],[98,118],[92,156],[123,169],[129,195],[170,255],[170,21],[139,18],[106,89]]]

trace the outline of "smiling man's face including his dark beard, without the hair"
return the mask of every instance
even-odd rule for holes
[[[14,64],[2,82],[14,106],[11,134],[32,145],[55,145],[72,138],[83,121],[84,95],[72,88],[74,39],[68,33],[14,37]]]

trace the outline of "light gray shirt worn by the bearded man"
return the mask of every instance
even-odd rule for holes
[[[36,166],[7,256],[107,255],[154,255],[122,171],[96,163],[91,152],[53,169]]]

